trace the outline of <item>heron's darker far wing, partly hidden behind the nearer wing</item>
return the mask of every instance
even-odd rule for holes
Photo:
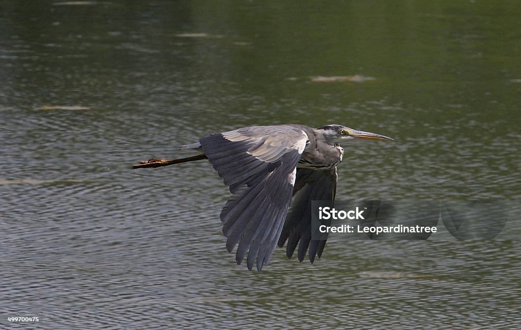
[[[296,171],[296,183],[293,189],[293,201],[288,212],[288,217],[284,222],[282,233],[280,234],[278,245],[284,246],[286,240],[286,255],[288,258],[293,256],[300,240],[298,257],[299,261],[304,260],[306,251],[309,247],[309,261],[315,261],[315,257],[322,255],[326,245],[324,240],[312,240],[312,221],[311,221],[311,201],[330,200],[333,206],[334,197],[337,191],[337,168],[331,170],[317,171],[299,168]]]

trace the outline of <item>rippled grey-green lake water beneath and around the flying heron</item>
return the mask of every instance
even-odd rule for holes
[[[0,324],[518,327],[519,17],[506,1],[3,1]],[[506,238],[331,235],[314,264],[276,249],[247,271],[208,162],[130,170],[282,123],[395,139],[344,145],[338,199],[498,200]]]

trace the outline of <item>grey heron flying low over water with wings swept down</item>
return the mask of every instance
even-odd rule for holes
[[[342,125],[318,129],[298,124],[250,126],[181,146],[180,150],[194,149],[201,154],[165,165],[208,159],[232,194],[220,213],[226,248],[231,252],[239,244],[237,263],[241,264],[247,252],[248,269],[256,264],[261,271],[275,247],[286,242],[288,258],[297,245],[299,261],[306,252],[312,263],[320,258],[326,240],[312,240],[311,201],[332,204],[337,165],[344,154],[340,144],[355,139],[392,140]]]

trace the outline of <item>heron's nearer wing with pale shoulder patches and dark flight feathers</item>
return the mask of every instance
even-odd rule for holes
[[[296,164],[307,134],[294,126],[254,126],[213,134],[200,140],[210,163],[232,197],[222,209],[222,232],[235,259],[246,251],[248,269],[268,264],[277,245],[295,184]]]

